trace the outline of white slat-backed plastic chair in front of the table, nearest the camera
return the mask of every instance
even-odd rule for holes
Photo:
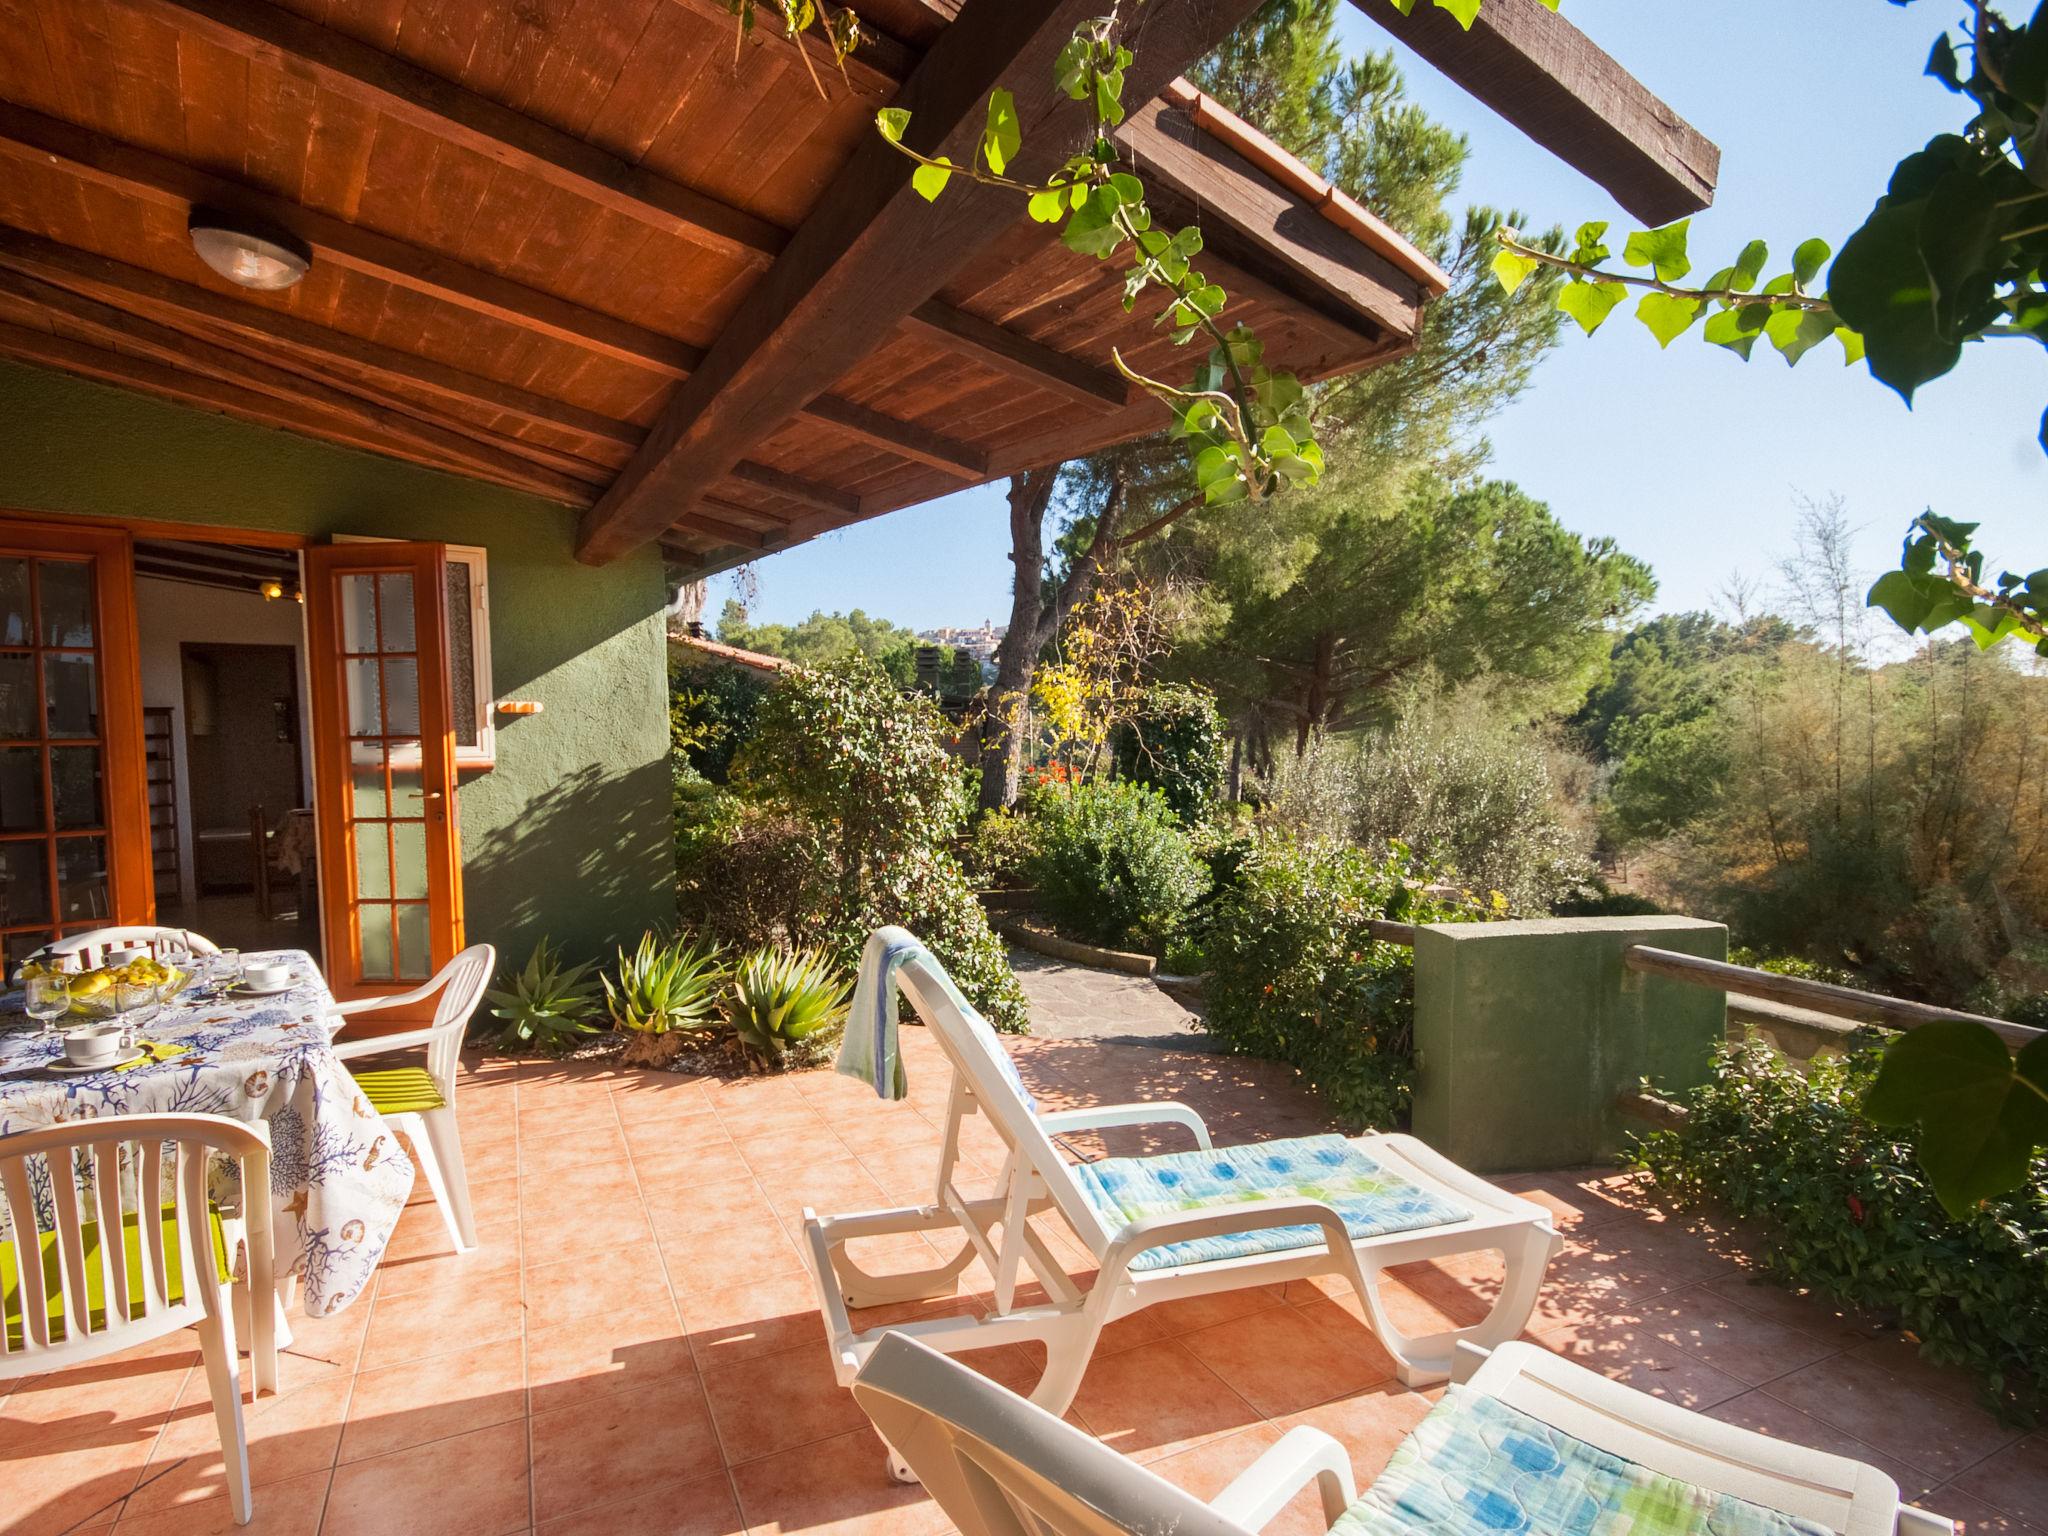
[[[250,1294],[268,1298],[270,1137],[262,1124],[219,1114],[115,1114],[0,1137],[0,1192],[10,1223],[0,1237],[0,1382],[199,1329],[227,1499],[236,1524],[246,1526],[250,1462],[233,1255],[207,1200],[207,1163],[215,1155],[240,1165],[246,1280]],[[123,1196],[123,1167],[133,1198]],[[121,1233],[121,1241],[106,1241],[106,1233]],[[274,1393],[274,1311],[250,1307],[248,1315],[254,1386]]]

